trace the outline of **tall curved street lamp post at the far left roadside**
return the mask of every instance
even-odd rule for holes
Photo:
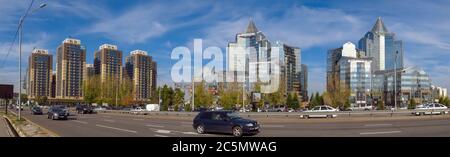
[[[21,119],[21,108],[22,108],[22,28],[23,28],[23,22],[25,20],[25,18],[28,16],[28,14],[30,13],[30,9],[33,6],[34,0],[31,1],[30,6],[28,7],[27,11],[25,12],[25,14],[20,17],[19,20],[19,27],[17,28],[19,30],[19,100],[18,100],[18,119]],[[44,8],[45,6],[47,6],[47,4],[41,4],[39,6],[39,8],[34,9],[31,13],[34,13],[36,11],[38,11],[41,8]]]

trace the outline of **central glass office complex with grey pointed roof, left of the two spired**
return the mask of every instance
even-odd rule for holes
[[[267,83],[269,76],[278,76],[279,90],[301,96],[300,48],[280,41],[271,43],[250,20],[246,31],[237,34],[235,41],[228,43],[227,50],[227,72],[223,74],[229,77],[228,82],[243,82],[247,94],[254,90],[256,82]],[[279,64],[279,71],[272,69],[274,63]]]

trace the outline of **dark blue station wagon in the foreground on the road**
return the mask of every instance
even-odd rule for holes
[[[192,126],[198,134],[209,132],[232,134],[258,134],[259,124],[255,120],[244,119],[234,111],[204,111],[195,116]]]

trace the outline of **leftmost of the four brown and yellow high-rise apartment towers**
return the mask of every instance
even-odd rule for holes
[[[51,97],[53,56],[48,50],[34,49],[28,63],[28,98]]]

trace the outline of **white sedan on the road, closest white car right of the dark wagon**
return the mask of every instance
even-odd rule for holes
[[[339,110],[331,107],[331,106],[316,106],[311,110],[304,111],[300,118],[335,118],[337,117],[337,112]]]

